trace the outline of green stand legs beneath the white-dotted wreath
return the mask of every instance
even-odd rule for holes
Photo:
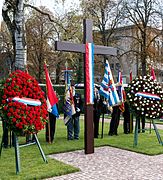
[[[156,124],[153,119],[152,120],[150,119],[150,132],[151,132],[151,121],[152,121],[152,124],[154,127],[154,131],[156,133],[157,140],[158,140],[159,144],[161,144],[163,146],[161,136],[158,132],[158,129],[157,129]],[[138,120],[136,119],[135,132],[134,132],[134,147],[137,146],[137,144],[138,144]]]

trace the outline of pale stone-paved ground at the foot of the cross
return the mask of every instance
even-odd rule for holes
[[[163,180],[163,154],[148,156],[105,146],[95,148],[93,154],[80,150],[50,157],[78,167],[80,172],[48,180]]]

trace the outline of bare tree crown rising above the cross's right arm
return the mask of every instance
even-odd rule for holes
[[[99,30],[102,45],[109,46],[114,29],[121,20],[121,1],[114,0],[82,0],[83,15],[92,18],[94,26]],[[108,31],[109,29],[109,31]],[[101,41],[100,40],[100,41]]]

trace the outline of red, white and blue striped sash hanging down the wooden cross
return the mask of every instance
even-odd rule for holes
[[[94,103],[94,44],[85,45],[86,104]]]

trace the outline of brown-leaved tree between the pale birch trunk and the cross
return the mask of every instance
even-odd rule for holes
[[[51,15],[51,12],[45,7],[40,7],[40,10]],[[26,35],[28,70],[38,82],[43,83],[45,61],[49,65],[49,72],[54,72],[57,64],[55,53],[51,47],[51,39],[55,36],[54,24],[49,21],[47,16],[32,10],[26,21]]]

